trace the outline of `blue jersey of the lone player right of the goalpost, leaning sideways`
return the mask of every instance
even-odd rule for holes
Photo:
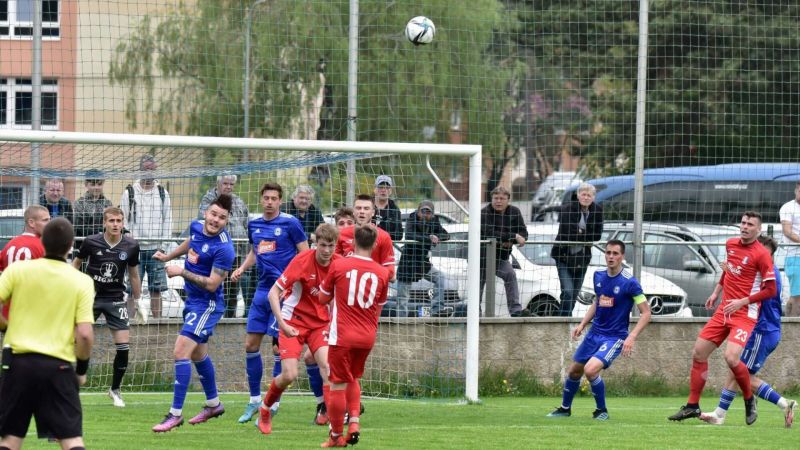
[[[628,337],[634,297],[642,295],[639,281],[628,269],[622,269],[613,277],[606,270],[598,270],[594,273],[594,292],[597,308],[591,332],[622,339]]]

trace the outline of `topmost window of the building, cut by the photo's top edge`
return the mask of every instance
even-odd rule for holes
[[[0,38],[33,36],[35,0],[0,0]],[[58,0],[42,1],[42,37],[58,38]]]

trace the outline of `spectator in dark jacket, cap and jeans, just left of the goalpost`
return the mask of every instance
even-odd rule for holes
[[[436,285],[431,316],[449,316],[453,313],[453,307],[444,304],[444,277],[431,264],[429,252],[440,241],[450,239],[450,235],[433,213],[432,201],[423,200],[417,210],[408,216],[406,239],[416,242],[403,246],[403,254],[400,255],[400,263],[397,266],[397,315],[399,317],[408,315],[408,293],[411,283],[425,278]]]

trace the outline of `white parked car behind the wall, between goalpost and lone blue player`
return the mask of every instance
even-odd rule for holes
[[[446,227],[450,237],[455,241],[464,241],[467,238],[467,225],[452,225]],[[558,272],[555,261],[550,257],[552,244],[547,241],[555,239],[558,225],[555,224],[530,224],[528,225],[529,242],[523,247],[515,246],[511,252],[512,265],[517,273],[519,284],[520,302],[532,316],[552,316],[558,311],[561,298],[561,285],[558,281]],[[541,243],[530,241],[543,241]],[[466,245],[446,248],[440,244],[435,248],[434,265],[447,271],[459,281],[462,296],[466,285]],[[587,270],[586,278],[578,295],[578,302],[591,304],[594,300],[592,280],[594,272],[605,269],[605,256],[603,250],[597,246],[592,248],[592,260]],[[625,265],[630,269],[630,266]],[[686,307],[686,292],[674,283],[647,271],[642,273],[642,288],[650,302],[654,315],[691,317],[691,311]],[[485,304],[485,303],[484,303]],[[577,311],[577,312],[576,312]],[[573,315],[583,316],[581,307],[576,306]],[[503,281],[496,280],[495,285],[495,315],[508,316],[508,306],[505,298]]]

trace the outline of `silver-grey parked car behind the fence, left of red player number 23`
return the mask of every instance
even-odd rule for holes
[[[664,242],[645,245],[643,269],[662,276],[680,286],[688,294],[689,307],[695,317],[708,317],[713,310],[705,309],[705,301],[722,275],[720,262],[725,260],[725,241],[739,236],[739,227],[732,225],[665,224],[645,222],[645,242]],[[603,240],[633,240],[632,222],[606,222]],[[686,245],[680,245],[686,242]],[[780,252],[779,252],[780,254]],[[780,257],[776,257],[778,267]],[[784,286],[788,279],[781,271]],[[788,289],[783,290],[784,304]]]

